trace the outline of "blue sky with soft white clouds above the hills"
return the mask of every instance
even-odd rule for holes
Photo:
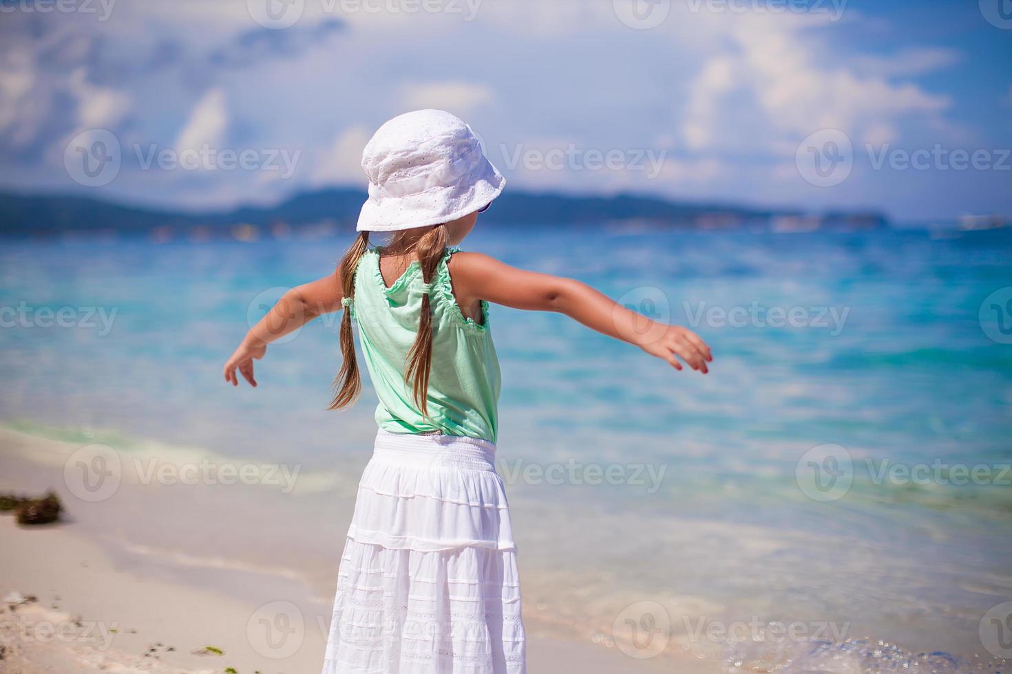
[[[1012,0],[56,1],[0,0],[7,189],[361,186],[372,130],[440,107],[514,187],[1012,214]],[[120,163],[89,186],[96,137]]]

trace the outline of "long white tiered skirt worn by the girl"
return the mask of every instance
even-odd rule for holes
[[[338,572],[323,674],[522,674],[495,445],[380,431]]]

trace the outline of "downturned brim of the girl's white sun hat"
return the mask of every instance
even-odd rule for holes
[[[358,215],[358,231],[401,231],[450,222],[492,203],[506,187],[506,179],[482,158],[457,185],[434,187],[399,197],[382,197],[370,190]]]

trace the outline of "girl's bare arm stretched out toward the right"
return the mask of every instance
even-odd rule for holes
[[[706,363],[713,360],[709,347],[695,332],[651,320],[574,279],[516,269],[480,253],[454,255],[450,276],[461,306],[484,299],[514,309],[558,311],[598,332],[636,345],[676,370],[682,369],[680,358],[706,374]]]

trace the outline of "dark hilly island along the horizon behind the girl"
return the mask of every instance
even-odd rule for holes
[[[66,194],[0,193],[0,236],[146,235],[158,239],[280,237],[304,231],[320,236],[354,230],[366,194],[331,188],[297,194],[269,207],[243,206],[192,213]],[[808,213],[725,204],[667,201],[657,197],[573,196],[511,191],[483,216],[492,224],[778,231],[875,229],[889,225],[873,211]]]

